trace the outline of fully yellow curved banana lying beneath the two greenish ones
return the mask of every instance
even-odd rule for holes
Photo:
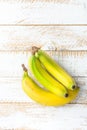
[[[79,88],[74,91],[69,90],[67,98],[56,96],[55,94],[39,87],[36,82],[28,75],[28,71],[22,65],[24,74],[22,77],[22,89],[35,102],[45,106],[62,106],[74,100],[79,92]]]

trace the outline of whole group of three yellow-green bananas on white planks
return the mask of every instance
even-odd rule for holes
[[[77,96],[79,88],[75,80],[40,48],[32,47],[28,66],[33,77],[42,85],[39,86],[28,75],[27,68],[22,64],[22,88],[34,101],[46,106],[61,106]]]

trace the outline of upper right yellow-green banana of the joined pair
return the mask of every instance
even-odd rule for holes
[[[47,71],[66,88],[70,90],[74,90],[76,88],[75,80],[44,51],[37,49],[35,56],[39,58],[40,62],[44,65]]]

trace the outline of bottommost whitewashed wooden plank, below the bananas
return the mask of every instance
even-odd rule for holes
[[[87,105],[42,107],[0,104],[0,128],[17,130],[86,130]]]

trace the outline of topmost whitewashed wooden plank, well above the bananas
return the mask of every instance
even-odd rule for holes
[[[87,24],[87,1],[0,1],[0,24]]]

